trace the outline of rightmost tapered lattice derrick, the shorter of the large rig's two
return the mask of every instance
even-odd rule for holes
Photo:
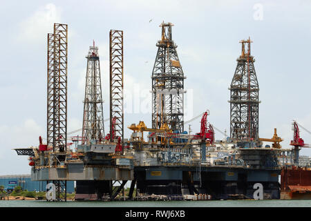
[[[230,135],[234,140],[258,140],[258,81],[254,57],[250,53],[252,41],[242,40],[242,53],[238,57],[236,72],[229,88]],[[245,45],[247,50],[245,51]]]

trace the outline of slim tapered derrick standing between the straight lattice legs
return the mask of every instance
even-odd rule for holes
[[[95,140],[104,140],[104,118],[102,108],[102,86],[100,80],[100,57],[98,47],[90,46],[88,50],[86,85],[84,98],[84,115],[82,128],[82,144]]]

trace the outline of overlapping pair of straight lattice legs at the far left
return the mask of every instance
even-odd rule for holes
[[[67,28],[54,23],[48,34],[47,144],[59,153],[66,152],[67,142]]]

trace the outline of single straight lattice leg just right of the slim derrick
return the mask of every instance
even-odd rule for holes
[[[123,142],[123,31],[110,30],[110,140]]]

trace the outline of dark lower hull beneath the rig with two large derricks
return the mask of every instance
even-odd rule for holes
[[[280,199],[279,169],[226,166],[135,167],[139,193],[147,195],[208,194],[213,200],[254,199],[254,184],[263,185],[263,199]]]

